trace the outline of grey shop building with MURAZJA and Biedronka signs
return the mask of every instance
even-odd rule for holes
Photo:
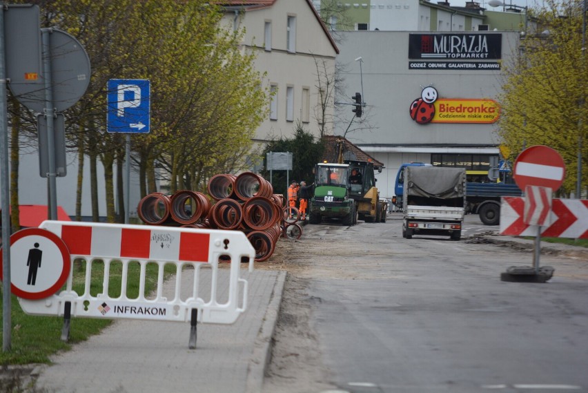
[[[403,162],[462,166],[469,180],[491,181],[500,157],[502,70],[518,57],[519,32],[349,31],[337,64],[335,135],[384,164],[382,198],[394,195]],[[355,93],[365,102],[351,118]]]

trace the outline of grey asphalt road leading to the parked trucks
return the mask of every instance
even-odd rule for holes
[[[297,308],[310,309],[320,372],[315,385],[275,391],[588,392],[588,260],[543,255],[556,269],[549,282],[502,282],[532,253],[469,241],[498,231],[477,216],[465,228],[455,242],[406,240],[395,213],[384,224],[307,225],[284,301],[304,294]],[[292,347],[294,328],[283,325],[277,346]],[[300,382],[296,367],[306,366],[287,366],[273,369],[265,391],[280,378]]]

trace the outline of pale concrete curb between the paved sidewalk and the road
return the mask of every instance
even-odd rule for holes
[[[277,325],[277,316],[280,313],[286,274],[285,270],[278,272],[262,327],[255,338],[253,353],[247,367],[246,393],[262,392],[266,367],[271,359],[272,338]]]

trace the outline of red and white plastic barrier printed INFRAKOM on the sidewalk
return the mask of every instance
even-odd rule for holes
[[[155,227],[148,225],[99,224],[47,220],[39,226],[55,233],[69,249],[71,266],[65,289],[40,300],[19,298],[27,314],[64,316],[61,338],[69,336],[69,317],[135,318],[188,322],[192,325],[190,348],[195,347],[196,322],[234,323],[247,308],[248,282],[239,276],[241,262],[249,262],[253,271],[255,250],[244,233],[215,229]],[[86,262],[84,292],[72,290],[75,260]],[[227,289],[219,289],[219,262],[231,260]],[[90,294],[92,265],[104,269],[102,290]],[[128,298],[128,267],[139,263],[139,296]],[[78,263],[78,262],[76,262]],[[110,267],[121,264],[119,296],[111,298]],[[145,294],[146,266],[158,268],[157,289]],[[164,267],[175,265],[175,285],[170,298],[164,296]],[[104,266],[104,267],[103,267]],[[210,274],[203,270],[210,269]],[[226,272],[228,269],[223,269]],[[189,296],[180,295],[182,276],[193,280]],[[210,291],[199,290],[203,277],[210,277]],[[185,291],[186,289],[184,289]]]

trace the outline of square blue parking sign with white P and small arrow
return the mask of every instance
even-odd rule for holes
[[[146,79],[108,81],[108,132],[149,133],[150,86]]]

